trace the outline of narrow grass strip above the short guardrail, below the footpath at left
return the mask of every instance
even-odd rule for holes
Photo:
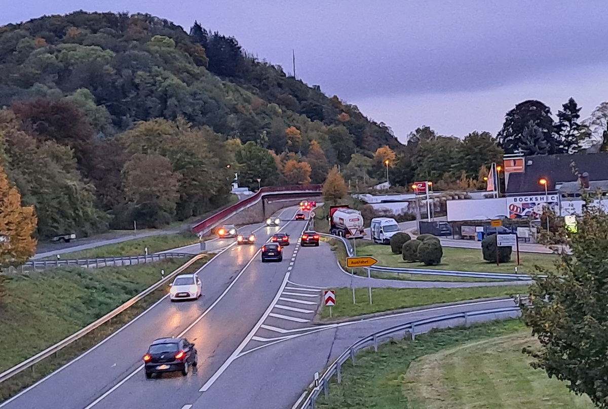
[[[103,258],[119,256],[142,256],[145,248],[148,247],[148,254],[162,252],[164,250],[176,249],[189,244],[198,242],[198,237],[192,232],[182,232],[174,235],[148,236],[140,239],[127,240],[116,244],[106,244],[105,246],[94,247],[92,249],[80,250],[77,252],[63,253],[63,259],[84,259],[84,258]],[[49,256],[45,259],[55,259]]]

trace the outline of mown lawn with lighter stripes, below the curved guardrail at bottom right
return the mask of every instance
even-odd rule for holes
[[[592,408],[528,365],[521,346],[536,341],[524,331],[519,320],[494,321],[386,343],[345,363],[317,408]]]

